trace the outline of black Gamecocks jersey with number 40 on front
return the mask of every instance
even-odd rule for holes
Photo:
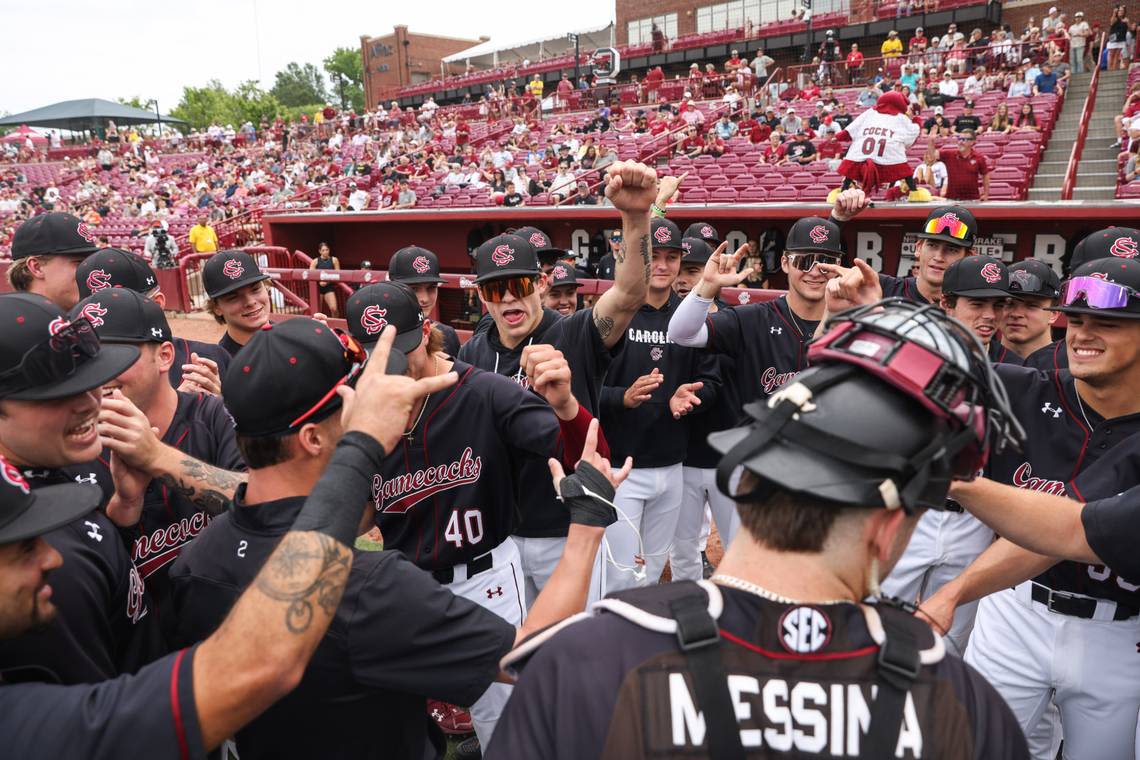
[[[384,548],[424,570],[471,562],[519,523],[522,465],[562,457],[544,399],[510,378],[455,362],[459,382],[432,397],[373,479]]]

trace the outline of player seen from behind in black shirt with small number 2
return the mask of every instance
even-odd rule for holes
[[[389,286],[373,287],[383,292]],[[328,390],[359,361],[352,354],[359,346],[348,344],[317,322],[298,319],[260,333],[235,358],[256,368],[228,375],[225,394],[253,467],[231,508],[187,547],[172,570],[176,644],[198,640],[217,628],[296,518],[304,501],[300,495],[316,484],[341,435],[340,397]],[[290,381],[285,387],[282,378]],[[303,422],[293,424],[307,411]],[[589,488],[598,487],[609,499],[612,481],[602,476],[619,480],[620,473],[611,475],[608,463],[593,452],[592,440],[596,431],[587,436],[584,458],[601,469],[587,465],[576,479],[591,469],[597,480],[589,480]],[[562,488],[569,498],[569,483]],[[355,553],[331,634],[298,690],[237,734],[242,758],[442,757],[441,737],[429,734],[424,720],[424,696],[474,702],[516,641],[584,607],[604,528],[594,522],[593,512],[601,507],[602,514],[612,514],[612,508],[595,502],[584,510],[577,500],[569,506],[567,556],[535,615],[518,629],[456,597],[399,551]],[[396,620],[404,622],[393,624]]]

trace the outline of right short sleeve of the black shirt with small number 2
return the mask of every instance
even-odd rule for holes
[[[372,566],[353,566],[341,602],[353,679],[456,704],[479,698],[514,646],[514,626],[397,551],[359,553],[357,562]]]

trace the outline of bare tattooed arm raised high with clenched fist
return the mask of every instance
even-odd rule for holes
[[[613,287],[594,304],[594,325],[605,346],[613,348],[645,303],[652,256],[649,207],[657,198],[657,172],[618,161],[606,170],[605,197],[621,212],[621,247],[613,253]]]

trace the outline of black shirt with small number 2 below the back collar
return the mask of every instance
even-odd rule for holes
[[[244,502],[214,520],[171,569],[176,641],[205,638],[253,581],[304,498]],[[386,536],[385,536],[386,539]],[[304,678],[237,733],[250,758],[440,753],[425,697],[471,704],[498,673],[515,629],[451,594],[399,551],[356,551],[336,614]]]

